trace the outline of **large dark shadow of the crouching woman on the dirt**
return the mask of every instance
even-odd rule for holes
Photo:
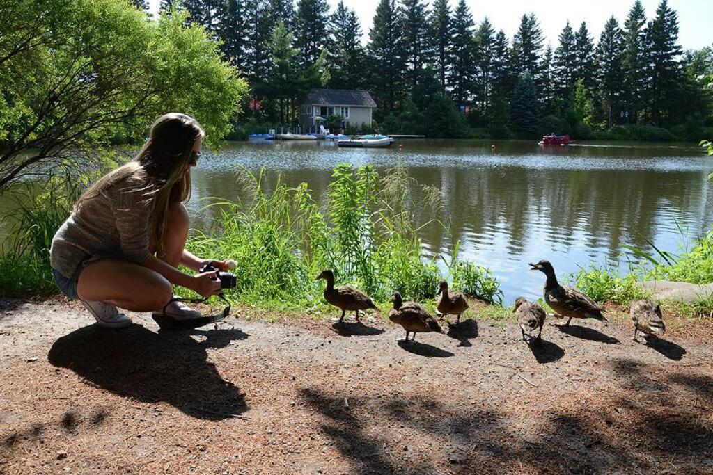
[[[141,325],[118,331],[89,325],[58,338],[48,360],[115,395],[167,402],[191,417],[220,420],[248,407],[240,388],[207,361],[206,349],[224,348],[248,336],[237,329],[159,335]]]

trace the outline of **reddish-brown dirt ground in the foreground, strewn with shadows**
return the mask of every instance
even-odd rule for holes
[[[0,301],[0,473],[712,473],[711,323],[304,316],[158,332]],[[477,315],[476,315],[477,317]],[[695,324],[691,324],[695,325]],[[704,326],[701,326],[704,325]]]

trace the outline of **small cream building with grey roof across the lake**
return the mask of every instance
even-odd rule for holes
[[[299,127],[303,132],[316,132],[314,118],[324,120],[341,115],[347,124],[371,125],[371,112],[376,103],[365,90],[315,89],[299,100]]]

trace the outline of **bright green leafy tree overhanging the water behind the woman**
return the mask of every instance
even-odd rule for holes
[[[36,162],[138,143],[170,110],[195,116],[217,145],[247,93],[185,14],[147,21],[123,0],[18,0],[0,15],[0,189]]]

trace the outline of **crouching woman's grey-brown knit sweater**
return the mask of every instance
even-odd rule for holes
[[[76,207],[52,239],[52,268],[72,278],[85,261],[111,257],[141,263],[151,256],[153,199],[147,196],[145,182],[138,174],[112,184],[103,194]]]

